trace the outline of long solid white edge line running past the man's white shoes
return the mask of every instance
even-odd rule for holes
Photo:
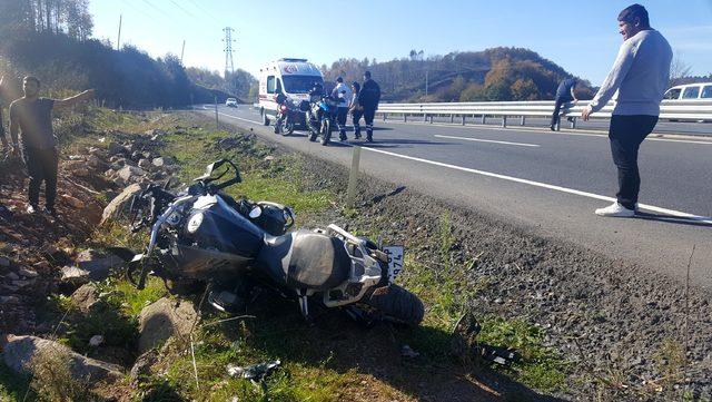
[[[451,164],[444,164],[442,161],[416,158],[416,157],[413,157],[413,156],[400,155],[400,154],[390,153],[390,151],[383,150],[383,149],[375,149],[375,148],[369,148],[369,147],[363,147],[363,148],[367,149],[367,150],[370,150],[373,153],[385,154],[385,155],[395,156],[397,158],[409,159],[409,160],[415,160],[415,161],[419,161],[419,163],[424,163],[424,164],[428,164],[428,165],[435,165],[435,166],[446,167],[446,168],[451,168],[451,169],[455,169],[455,170],[473,173],[473,174],[481,175],[481,176],[494,177],[494,178],[498,178],[498,179],[503,179],[503,180],[526,184],[526,185],[534,186],[534,187],[552,189],[552,190],[555,190],[555,192],[573,194],[573,195],[577,195],[577,196],[582,196],[582,197],[600,199],[600,200],[605,200],[605,202],[610,202],[610,203],[615,202],[615,198],[613,198],[613,197],[607,197],[607,196],[603,196],[603,195],[599,195],[599,194],[582,192],[582,190],[577,190],[577,189],[573,189],[573,188],[555,186],[555,185],[534,182],[534,180],[527,180],[525,178],[512,177],[512,176],[501,175],[501,174],[492,173],[492,171],[471,169],[468,167],[462,167],[462,166],[456,166],[456,165],[451,165]],[[661,207],[656,207],[654,205],[647,205],[647,204],[639,204],[639,208],[640,209],[650,210],[650,212],[654,212],[654,213],[657,213],[657,214],[665,214],[665,215],[671,215],[671,216],[679,217],[679,218],[684,218],[685,220],[694,220],[696,223],[703,223],[703,224],[712,225],[712,217],[708,217],[708,216],[693,215],[693,214],[689,214],[689,213],[684,213],[684,212],[680,212],[680,210],[661,208]]]

